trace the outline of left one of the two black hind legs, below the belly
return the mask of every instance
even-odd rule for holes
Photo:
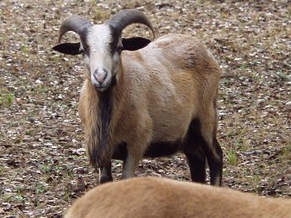
[[[202,149],[197,149],[195,154],[186,154],[186,157],[192,181],[206,183],[206,155]]]

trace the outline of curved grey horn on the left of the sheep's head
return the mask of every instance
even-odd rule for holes
[[[81,35],[82,32],[91,25],[92,24],[88,20],[79,15],[66,17],[59,30],[58,42],[61,42],[62,36],[65,35],[66,32],[73,31]]]

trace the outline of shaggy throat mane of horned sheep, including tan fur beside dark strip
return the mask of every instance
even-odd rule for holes
[[[115,128],[115,121],[121,112],[123,102],[123,75],[120,72],[118,83],[114,81],[105,92],[99,92],[90,82],[93,102],[92,110],[95,121],[91,125],[91,134],[88,139],[88,155],[90,162],[97,167],[104,167],[110,163],[112,158],[111,134]],[[95,102],[95,103],[94,103]]]

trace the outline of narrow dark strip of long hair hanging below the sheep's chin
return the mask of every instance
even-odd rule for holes
[[[111,160],[109,124],[112,107],[110,93],[99,94],[97,119],[87,137],[87,155],[95,169],[104,167]]]

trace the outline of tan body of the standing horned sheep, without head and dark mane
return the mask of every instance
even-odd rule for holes
[[[103,117],[98,116],[102,114],[100,94],[89,80],[83,86],[79,115],[85,124],[91,162],[95,165],[95,147],[100,146],[100,140],[108,146],[107,161],[114,156],[129,163],[127,167],[125,164],[124,177],[133,175],[143,155],[160,156],[182,150],[190,159],[197,159],[196,155],[202,159],[202,165],[195,166],[198,169],[205,167],[206,153],[208,162],[215,164],[210,163],[210,170],[218,169],[212,182],[220,184],[222,153],[216,141],[220,69],[205,45],[194,37],[166,35],[143,49],[124,51],[122,63],[119,78],[110,90],[108,101],[114,108],[108,114],[106,139],[98,137],[101,133],[95,130],[96,125],[105,125]],[[125,151],[118,152],[121,144],[125,144]],[[201,148],[206,152],[201,154]],[[190,163],[193,170],[191,167],[194,165]]]

